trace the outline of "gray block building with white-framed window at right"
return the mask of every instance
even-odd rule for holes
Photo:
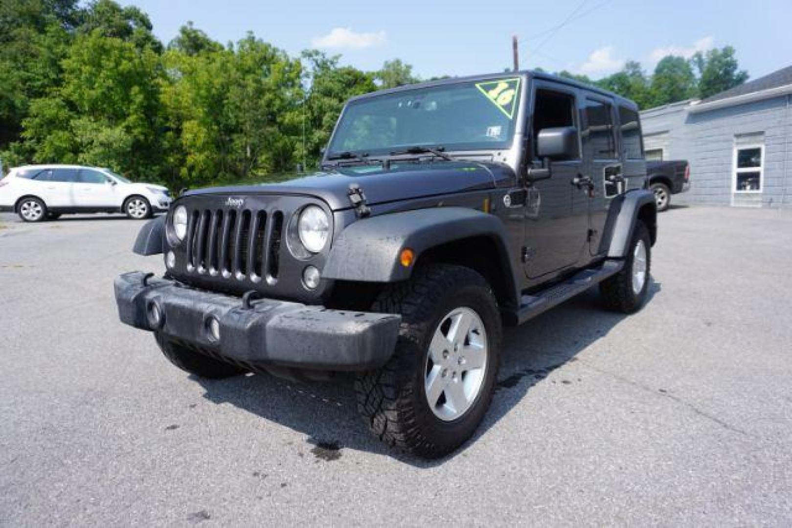
[[[690,161],[676,203],[792,207],[792,66],[641,120],[648,160]]]

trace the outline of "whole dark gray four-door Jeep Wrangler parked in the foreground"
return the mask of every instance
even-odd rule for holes
[[[543,73],[454,78],[348,102],[322,173],[186,192],[116,279],[121,321],[177,367],[351,372],[384,442],[427,458],[470,438],[501,325],[599,284],[645,302],[657,211],[634,103]]]

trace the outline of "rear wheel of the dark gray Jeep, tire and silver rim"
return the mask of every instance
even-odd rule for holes
[[[643,306],[649,292],[651,252],[649,230],[644,222],[636,220],[624,268],[600,283],[600,294],[609,310],[633,313]]]

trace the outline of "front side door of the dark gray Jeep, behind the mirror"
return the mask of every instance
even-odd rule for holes
[[[541,165],[536,156],[536,138],[543,128],[576,127],[580,130],[577,112],[577,89],[552,82],[535,81],[533,88],[531,128],[527,131],[533,164]],[[578,142],[577,156],[564,161],[550,161],[552,176],[531,184],[525,229],[525,273],[529,279],[562,272],[572,268],[584,253],[588,230],[588,205],[576,184],[581,177],[583,161]],[[583,207],[581,207],[583,196]]]

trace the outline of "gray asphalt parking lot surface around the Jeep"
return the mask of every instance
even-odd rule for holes
[[[505,336],[485,424],[440,462],[349,384],[219,382],[121,325],[142,224],[0,215],[0,525],[789,525],[792,211],[661,215],[642,312],[595,292]]]

